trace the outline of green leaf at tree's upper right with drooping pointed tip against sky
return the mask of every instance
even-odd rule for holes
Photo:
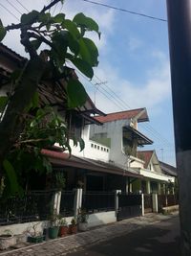
[[[97,25],[97,23],[94,19],[92,19],[90,17],[87,17],[82,12],[80,12],[80,13],[77,13],[74,16],[73,21],[79,27],[86,28],[89,31],[95,31],[98,34],[99,38],[100,38],[100,33],[98,31],[98,25]]]

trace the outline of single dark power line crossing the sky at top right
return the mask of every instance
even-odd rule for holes
[[[94,5],[97,5],[97,6],[102,6],[102,7],[110,8],[110,9],[113,9],[113,10],[117,10],[117,11],[120,11],[120,12],[128,12],[128,13],[131,13],[131,14],[135,14],[135,15],[138,15],[138,16],[145,17],[145,18],[150,18],[150,19],[154,19],[154,20],[158,20],[158,21],[162,21],[162,22],[167,22],[167,20],[163,19],[163,18],[147,15],[147,14],[140,13],[140,12],[133,12],[133,11],[130,11],[130,10],[110,6],[110,5],[103,4],[103,3],[97,3],[97,2],[92,1],[92,0],[82,0],[82,1],[90,3],[90,4],[94,4]]]

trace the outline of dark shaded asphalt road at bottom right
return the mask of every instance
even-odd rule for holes
[[[67,256],[180,256],[179,218],[161,221]]]

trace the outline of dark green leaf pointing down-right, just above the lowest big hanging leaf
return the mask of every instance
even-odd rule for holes
[[[78,68],[86,77],[92,79],[94,76],[94,70],[92,66],[81,58],[72,58],[71,61],[75,67]]]

